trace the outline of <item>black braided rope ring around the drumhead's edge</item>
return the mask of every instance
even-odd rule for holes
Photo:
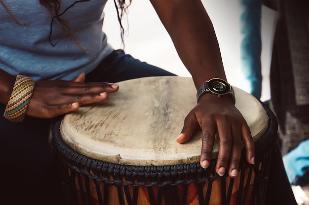
[[[277,119],[274,113],[263,102],[261,103],[269,116],[268,129],[266,130],[263,137],[261,137],[258,141],[254,142],[255,160],[256,160],[255,165],[249,165],[246,162],[245,149],[242,150],[240,164],[244,165],[243,169],[247,169],[249,167],[254,168],[257,165],[259,165],[260,162],[265,160],[267,156],[270,155],[277,141],[277,129],[278,129]],[[57,119],[52,126],[53,150],[56,156],[58,156],[58,159],[64,162],[68,167],[77,172],[84,173],[91,178],[96,178],[97,176],[93,176],[93,174],[91,174],[90,171],[92,172],[103,171],[106,172],[107,175],[138,176],[141,178],[145,177],[145,180],[149,177],[167,177],[173,175],[179,176],[179,175],[188,175],[192,173],[201,174],[200,181],[215,180],[217,177],[219,177],[219,175],[215,172],[215,166],[217,162],[216,159],[213,159],[211,161],[210,166],[207,169],[203,169],[200,167],[199,162],[190,164],[177,164],[177,165],[140,166],[140,165],[116,164],[87,157],[69,147],[62,139],[60,134],[60,125],[62,119],[63,117]],[[87,168],[86,170],[85,167]],[[228,176],[228,174],[226,173],[225,176]],[[103,177],[103,179],[101,178],[100,180],[111,182],[111,179],[109,177],[107,178]],[[127,180],[125,182],[117,180],[111,183],[120,183],[120,184],[125,183],[134,185],[136,182],[134,182],[134,180],[132,181]]]

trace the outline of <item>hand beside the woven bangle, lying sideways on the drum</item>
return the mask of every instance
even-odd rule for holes
[[[112,83],[85,83],[81,73],[72,81],[37,81],[27,115],[53,118],[77,110],[80,105],[102,102],[119,87]]]

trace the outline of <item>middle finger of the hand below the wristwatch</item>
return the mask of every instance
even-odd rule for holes
[[[216,165],[216,172],[223,176],[229,163],[232,148],[232,128],[226,120],[221,120],[218,127],[219,153]]]

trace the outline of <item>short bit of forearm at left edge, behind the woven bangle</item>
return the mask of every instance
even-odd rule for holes
[[[16,76],[10,75],[0,69],[0,103],[7,104],[13,90]]]

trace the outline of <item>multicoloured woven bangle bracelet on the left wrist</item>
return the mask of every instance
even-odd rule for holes
[[[12,122],[22,122],[31,100],[36,81],[25,75],[17,75],[11,97],[3,116]]]

